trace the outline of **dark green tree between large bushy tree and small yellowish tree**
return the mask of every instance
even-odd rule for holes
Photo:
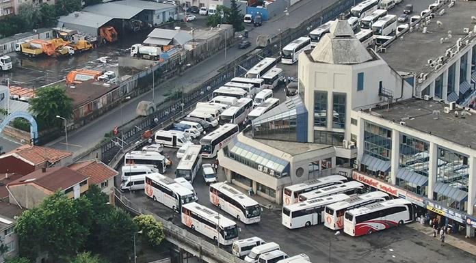
[[[99,223],[96,249],[110,262],[125,262],[133,251],[137,226],[127,212],[112,209]]]

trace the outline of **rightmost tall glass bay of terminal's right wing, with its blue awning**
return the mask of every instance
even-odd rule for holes
[[[433,199],[456,210],[467,210],[468,156],[438,147]]]

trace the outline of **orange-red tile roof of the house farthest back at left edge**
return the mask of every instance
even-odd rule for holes
[[[3,154],[0,158],[17,154],[21,158],[33,163],[34,165],[40,165],[44,162],[56,163],[68,156],[72,156],[72,152],[66,152],[62,150],[56,150],[53,148],[24,145]]]

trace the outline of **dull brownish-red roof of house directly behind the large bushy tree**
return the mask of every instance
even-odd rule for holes
[[[14,180],[14,182],[10,182],[8,187],[18,184],[33,183],[54,192],[59,189],[68,189],[85,179],[88,179],[88,176],[79,174],[77,171],[68,167],[51,167],[47,168],[47,171],[38,169],[31,174],[18,178],[17,180]]]

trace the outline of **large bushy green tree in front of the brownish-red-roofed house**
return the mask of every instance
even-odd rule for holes
[[[68,199],[57,192],[23,212],[15,227],[20,254],[31,260],[40,251],[49,251],[52,258],[75,255],[90,231],[90,209],[85,197]]]

